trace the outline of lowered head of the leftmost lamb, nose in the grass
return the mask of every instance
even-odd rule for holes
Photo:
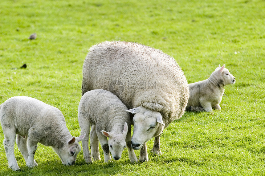
[[[76,156],[81,151],[79,141],[84,139],[85,135],[79,137],[72,137],[59,148],[53,148],[55,152],[59,155],[63,165],[71,166],[75,164]]]

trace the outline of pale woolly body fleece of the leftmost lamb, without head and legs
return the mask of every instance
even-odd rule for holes
[[[0,105],[0,118],[3,129],[12,124],[21,136],[27,136],[30,128],[38,129],[36,141],[46,146],[59,147],[59,141],[72,138],[61,111],[35,98],[11,97]]]

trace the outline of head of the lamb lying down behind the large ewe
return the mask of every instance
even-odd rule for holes
[[[235,77],[225,68],[225,64],[222,67],[219,65],[215,68],[214,73],[217,76],[216,79],[222,82],[223,86],[235,83]]]

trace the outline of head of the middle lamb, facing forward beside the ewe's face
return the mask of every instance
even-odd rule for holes
[[[124,129],[122,133],[111,133],[102,130],[102,134],[106,137],[108,137],[108,148],[112,155],[112,158],[115,160],[119,160],[121,157],[121,154],[123,152],[123,149],[126,147],[126,136],[128,132],[128,125],[125,122],[124,123]]]

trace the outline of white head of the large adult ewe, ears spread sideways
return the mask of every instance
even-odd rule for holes
[[[134,150],[141,149],[144,143],[149,141],[149,139],[162,133],[165,124],[163,123],[160,112],[149,110],[144,107],[137,107],[126,111],[134,114],[134,127],[131,140],[131,147]]]

